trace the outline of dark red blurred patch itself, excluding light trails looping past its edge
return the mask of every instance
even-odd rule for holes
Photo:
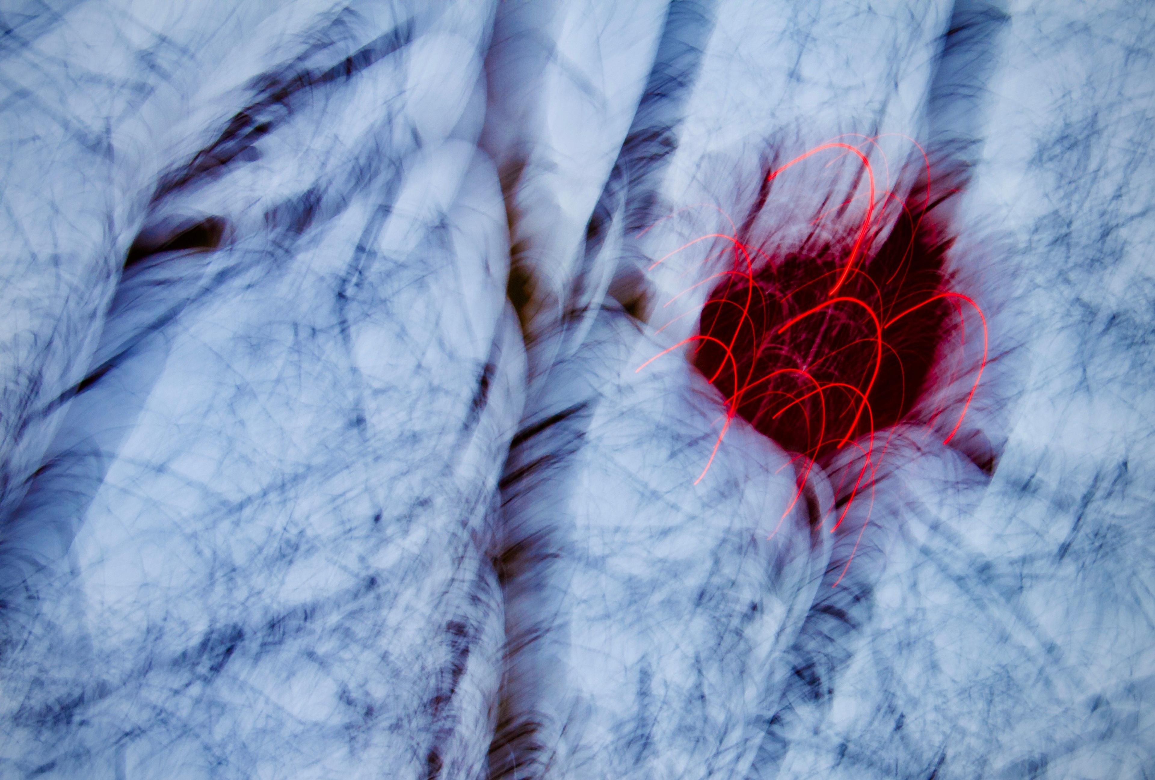
[[[880,242],[812,238],[775,255],[738,237],[735,270],[702,309],[693,357],[731,415],[821,460],[911,413],[957,321],[942,294],[951,241],[925,218],[929,205],[908,203]]]

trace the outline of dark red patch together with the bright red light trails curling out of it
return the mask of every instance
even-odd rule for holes
[[[874,140],[865,138],[863,145],[867,144]],[[736,227],[733,234],[701,235],[661,257],[651,269],[694,245],[722,242],[729,268],[694,285],[717,280],[701,309],[699,332],[638,370],[684,345],[694,345],[693,365],[725,404],[722,430],[695,483],[709,471],[733,418],[740,417],[793,453],[793,460],[807,463],[783,517],[797,503],[814,464],[828,464],[847,448],[857,450],[862,467],[833,533],[858,497],[864,477],[877,470],[885,455],[885,444],[875,451],[874,434],[903,421],[931,422],[945,411],[912,419],[929,389],[957,378],[936,375],[936,368],[941,347],[949,346],[955,335],[964,339],[966,305],[982,323],[983,358],[944,443],[954,437],[986,365],[988,332],[979,306],[951,287],[946,256],[953,237],[926,218],[941,202],[931,200],[929,164],[925,189],[921,187],[917,196],[902,202],[887,190],[878,197],[866,155],[833,141],[772,170],[763,192],[780,177],[790,175],[796,164],[830,151],[857,157],[869,182],[869,200],[856,228],[813,230],[798,248],[783,252],[775,249],[773,240],[754,235],[754,227]],[[812,227],[825,219],[826,213],[819,216]]]

